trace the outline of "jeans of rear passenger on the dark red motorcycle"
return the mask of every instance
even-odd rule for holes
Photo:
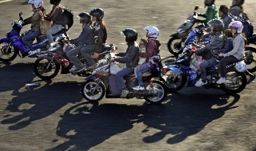
[[[85,57],[85,60],[88,63],[88,67],[95,64],[94,59],[91,57],[91,53],[94,53],[96,49],[96,44],[86,44],[81,49],[81,54]]]

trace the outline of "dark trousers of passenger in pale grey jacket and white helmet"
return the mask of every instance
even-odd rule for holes
[[[220,60],[220,74],[221,77],[226,77],[227,64],[239,61],[235,56],[227,56]]]

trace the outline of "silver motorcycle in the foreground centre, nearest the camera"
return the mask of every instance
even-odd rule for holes
[[[89,77],[85,78],[85,83],[81,89],[83,97],[90,102],[100,101],[106,94],[106,98],[121,98],[121,94],[114,95],[110,82],[111,54],[106,55],[105,59],[99,61],[97,67],[92,71]],[[138,79],[135,74],[124,76],[126,88],[129,90],[125,98],[144,98],[149,103],[161,103],[166,99],[167,91],[164,83],[156,80],[159,73],[144,72],[143,82],[145,90],[133,90],[138,85]],[[156,79],[154,79],[156,78]],[[117,89],[117,88],[116,88]]]

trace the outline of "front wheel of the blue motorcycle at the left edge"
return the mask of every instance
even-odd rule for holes
[[[0,61],[3,62],[10,62],[13,61],[17,55],[18,51],[14,50],[12,45],[10,48],[7,50],[8,43],[0,43]]]

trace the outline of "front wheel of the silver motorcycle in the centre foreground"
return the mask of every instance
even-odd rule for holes
[[[94,80],[86,80],[81,89],[81,94],[85,100],[89,102],[100,101],[105,95],[105,86],[101,82],[98,85],[98,88],[95,90],[96,83]]]

